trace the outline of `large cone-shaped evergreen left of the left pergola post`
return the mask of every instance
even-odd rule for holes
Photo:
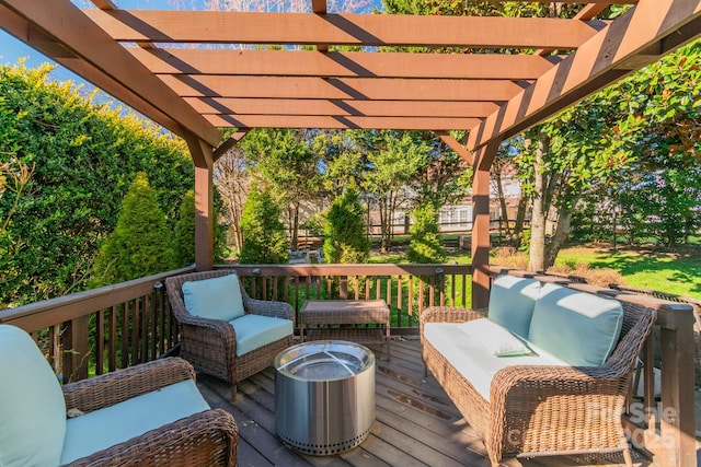
[[[171,233],[157,194],[139,172],[122,201],[115,231],[94,261],[94,287],[128,281],[172,269]]]

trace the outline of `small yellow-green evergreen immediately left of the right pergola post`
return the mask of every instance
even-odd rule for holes
[[[447,258],[443,246],[436,208],[426,203],[414,210],[414,224],[410,231],[412,240],[409,243],[406,258],[411,262],[444,262]]]

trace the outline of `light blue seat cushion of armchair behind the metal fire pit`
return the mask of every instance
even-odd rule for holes
[[[294,332],[290,319],[271,316],[248,314],[229,323],[237,331],[237,355],[239,357],[291,336]]]

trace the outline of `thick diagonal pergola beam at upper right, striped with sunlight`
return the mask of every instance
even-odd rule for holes
[[[692,40],[701,34],[700,16],[701,0],[640,0],[475,126],[468,149],[510,138]],[[651,47],[655,55],[650,54]]]

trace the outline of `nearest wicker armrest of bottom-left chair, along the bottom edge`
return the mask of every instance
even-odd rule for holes
[[[151,430],[70,467],[123,465],[235,466],[239,431],[233,417],[214,409]]]

